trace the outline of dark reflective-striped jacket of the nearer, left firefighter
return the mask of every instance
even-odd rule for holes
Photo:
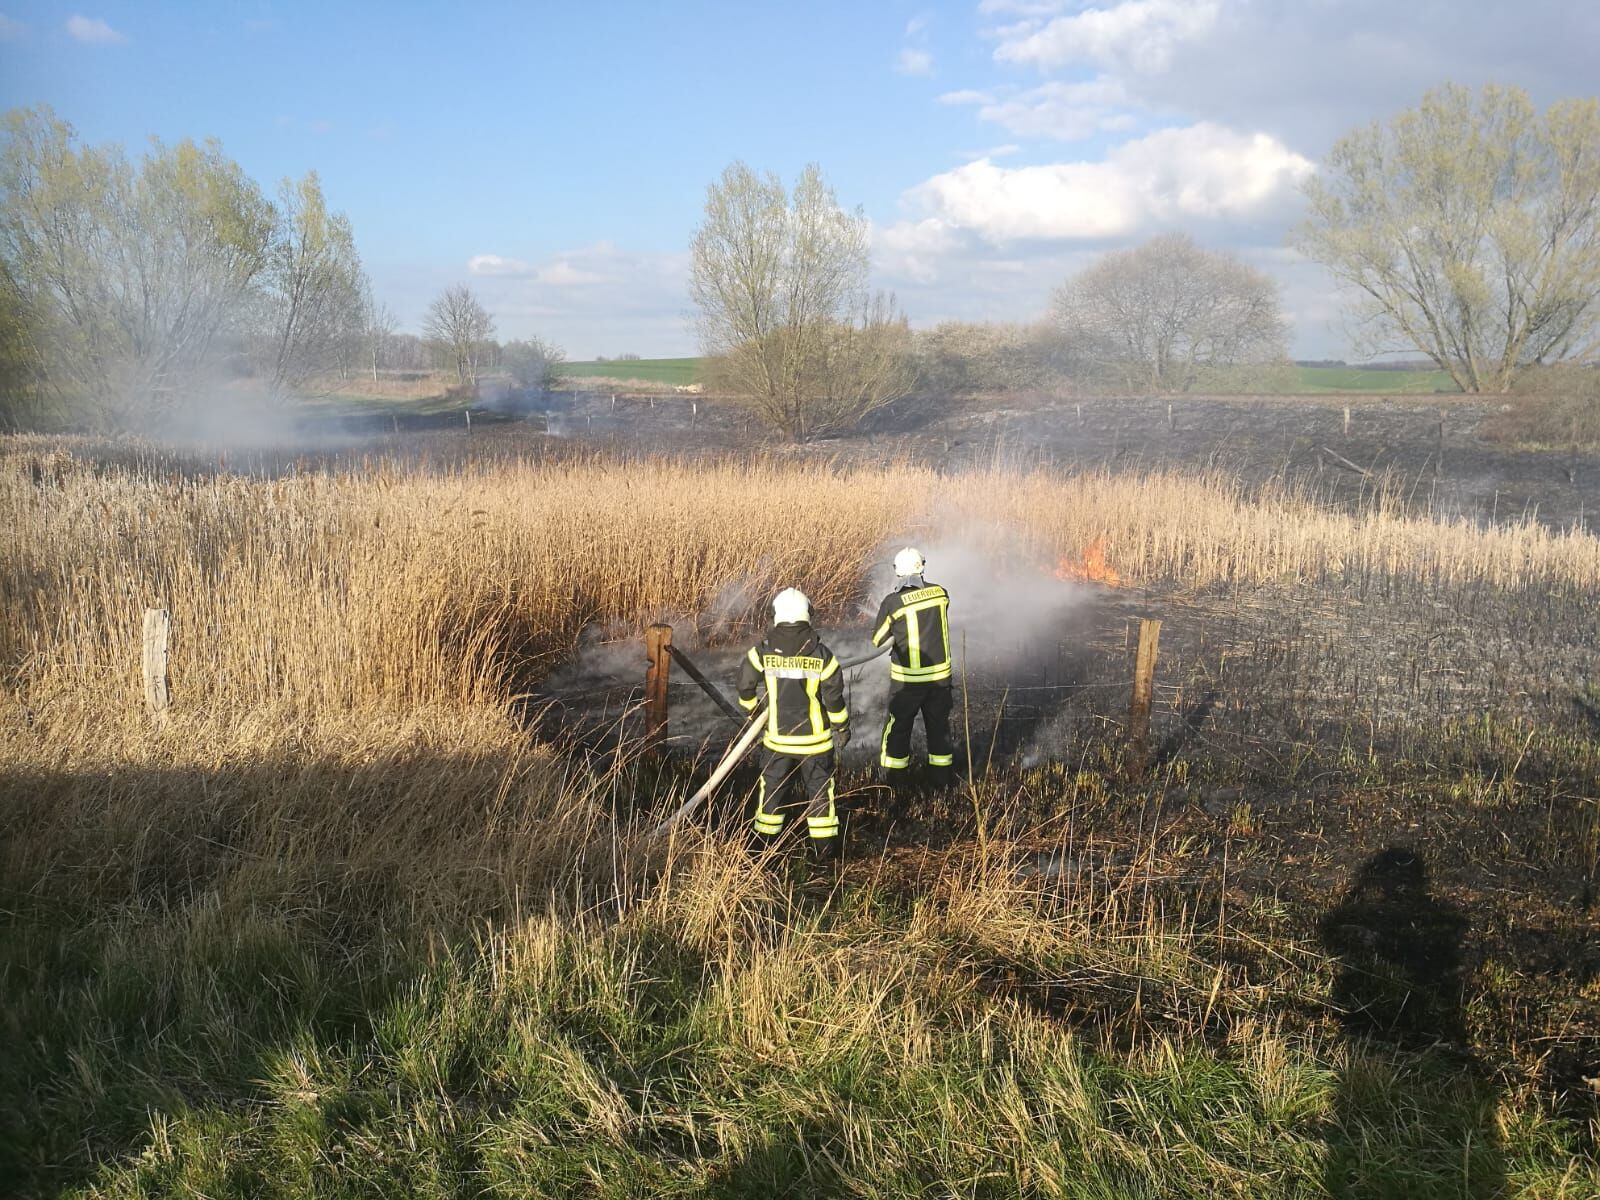
[[[838,659],[810,624],[773,626],[750,646],[739,666],[739,707],[754,712],[763,691],[768,750],[826,754],[834,730],[850,720]]]

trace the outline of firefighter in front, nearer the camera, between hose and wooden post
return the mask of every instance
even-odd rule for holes
[[[834,750],[850,741],[850,710],[838,659],[811,627],[811,602],[786,587],[773,598],[773,627],[739,667],[739,706],[754,712],[766,698],[762,782],[755,832],[773,845],[789,816],[805,814],[806,846],[819,859],[840,854],[834,803]],[[786,802],[790,782],[800,797]]]

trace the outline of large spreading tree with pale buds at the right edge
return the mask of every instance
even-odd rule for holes
[[[1464,392],[1600,350],[1600,101],[1445,86],[1341,139],[1294,245],[1355,290],[1362,349]]]

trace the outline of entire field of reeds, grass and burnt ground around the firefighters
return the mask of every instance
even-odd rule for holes
[[[1458,398],[1349,408],[974,405],[786,448],[574,397],[226,458],[13,438],[0,1170],[1597,1194],[1600,462]],[[848,654],[904,542],[960,610],[962,786],[875,782],[877,662],[837,875],[747,862],[747,774],[645,837],[733,726],[675,672],[640,754],[643,627],[731,690],[794,582]]]

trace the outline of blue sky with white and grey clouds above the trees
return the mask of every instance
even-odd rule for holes
[[[1275,274],[1299,355],[1344,352],[1283,250],[1334,136],[1435,83],[1600,90],[1581,0],[306,5],[0,0],[0,102],[86,141],[216,136],[315,168],[416,328],[469,282],[502,336],[693,354],[686,246],[733,158],[818,162],[912,322],[1038,317],[1166,229]]]

